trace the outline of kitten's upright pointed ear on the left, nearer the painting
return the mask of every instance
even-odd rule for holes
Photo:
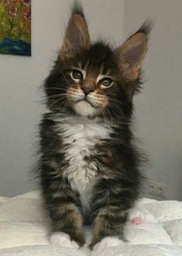
[[[81,6],[75,4],[66,28],[60,55],[62,58],[71,57],[79,53],[82,49],[88,49],[89,46],[89,31],[83,15],[83,9]]]

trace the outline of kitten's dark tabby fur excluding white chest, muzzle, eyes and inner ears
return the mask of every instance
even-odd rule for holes
[[[74,6],[71,19],[74,15],[85,20],[82,8],[78,5]],[[136,34],[143,34],[147,43],[149,32],[150,24],[144,24]],[[133,95],[140,91],[141,85],[140,68],[134,77],[130,77],[130,73],[125,73],[125,66],[120,67],[120,47],[113,50],[101,41],[79,49],[71,56],[67,56],[65,51],[62,47],[52,72],[45,80],[49,112],[43,115],[40,124],[41,154],[38,169],[45,207],[52,220],[52,231],[65,232],[82,246],[85,242],[83,224],[92,224],[93,241],[90,248],[93,248],[103,237],[117,235],[123,238],[128,212],[140,193],[141,156],[131,131]],[[94,148],[97,154],[89,155],[85,159],[86,162],[96,163],[98,179],[89,202],[90,208],[83,211],[78,191],[73,190],[69,180],[62,176],[62,169],[69,166],[69,162],[66,162],[62,148],[62,137],[56,131],[55,117],[59,114],[76,117],[70,104],[65,104],[65,92],[72,83],[69,70],[78,62],[84,67],[88,60],[87,69],[93,73],[93,77],[100,67],[103,67],[103,73],[110,70],[115,79],[113,87],[102,91],[99,88],[94,89],[94,84],[89,84],[89,88],[76,84],[72,88],[76,90],[80,86],[85,88],[83,90],[98,90],[99,97],[106,96],[110,104],[104,107],[104,112],[100,112],[97,118],[101,122],[111,121],[114,128],[110,139],[98,141]],[[132,61],[129,63],[131,67]],[[94,120],[96,116],[88,118]]]

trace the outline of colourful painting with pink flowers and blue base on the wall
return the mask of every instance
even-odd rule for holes
[[[31,56],[31,0],[0,0],[0,53]]]

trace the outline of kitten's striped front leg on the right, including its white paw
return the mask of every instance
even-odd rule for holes
[[[89,247],[119,246],[123,244],[121,239],[130,209],[130,189],[103,179],[97,184],[96,190],[93,198],[96,217],[93,222],[93,241]]]

